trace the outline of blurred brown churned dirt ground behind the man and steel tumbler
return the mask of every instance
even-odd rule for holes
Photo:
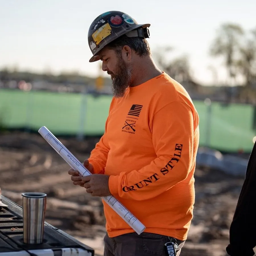
[[[60,138],[82,162],[98,138]],[[249,155],[248,155],[249,158]],[[37,134],[0,134],[0,186],[2,194],[19,205],[21,193],[38,191],[48,195],[46,221],[71,234],[103,255],[105,218],[101,199],[73,185],[69,166]],[[233,177],[218,170],[197,168],[196,202],[188,239],[181,256],[224,256],[244,177]]]

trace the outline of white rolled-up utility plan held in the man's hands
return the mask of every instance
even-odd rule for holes
[[[81,176],[91,175],[83,164],[71,154],[71,152],[45,127],[42,126],[38,132],[42,137],[57,151],[57,153],[71,166],[73,170],[79,172]],[[145,230],[145,226],[125,208],[112,195],[102,197],[102,199],[135,231],[141,234]]]

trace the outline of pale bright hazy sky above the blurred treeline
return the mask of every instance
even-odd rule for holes
[[[154,52],[171,46],[170,57],[189,57],[197,82],[218,84],[226,73],[222,60],[209,56],[216,31],[224,22],[256,28],[255,10],[254,0],[0,0],[0,68],[79,71],[96,77],[102,71],[100,61],[89,63],[89,26],[104,12],[122,11],[151,24],[153,58]]]

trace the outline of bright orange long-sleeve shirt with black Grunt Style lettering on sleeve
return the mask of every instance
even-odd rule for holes
[[[113,98],[105,133],[92,150],[94,173],[144,232],[187,239],[195,201],[199,117],[186,90],[166,73]],[[134,230],[104,201],[110,237]]]

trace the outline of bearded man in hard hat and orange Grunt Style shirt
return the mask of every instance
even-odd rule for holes
[[[187,91],[155,65],[150,24],[126,13],[98,16],[88,32],[93,56],[111,75],[113,99],[105,132],[75,185],[113,195],[145,226],[140,235],[103,201],[105,256],[176,255],[187,239],[195,200],[199,117]]]

